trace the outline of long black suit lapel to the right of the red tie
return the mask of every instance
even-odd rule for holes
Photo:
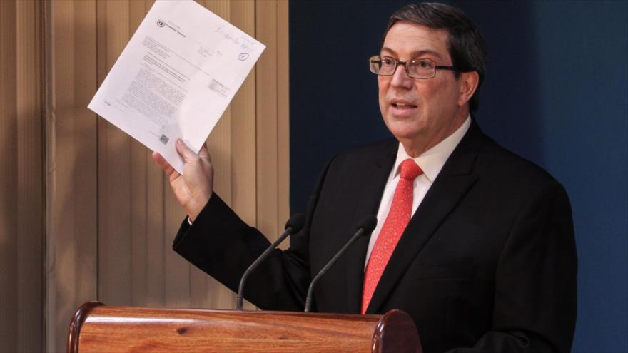
[[[477,175],[473,174],[472,170],[481,137],[479,128],[472,123],[465,138],[462,138],[443,165],[397,243],[378,287],[375,288],[367,309],[368,313],[380,309],[425,243],[477,180]]]

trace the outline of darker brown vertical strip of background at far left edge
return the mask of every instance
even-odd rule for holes
[[[44,337],[43,16],[0,1],[0,352]]]

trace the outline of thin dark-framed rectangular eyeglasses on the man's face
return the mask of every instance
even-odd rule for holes
[[[393,76],[397,66],[404,66],[407,76],[412,78],[432,78],[436,76],[436,70],[458,71],[455,66],[442,66],[428,58],[415,58],[409,61],[399,61],[390,56],[371,56],[368,59],[370,72],[380,76]]]

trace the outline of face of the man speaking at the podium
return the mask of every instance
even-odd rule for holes
[[[386,34],[380,55],[398,61],[430,58],[436,65],[452,66],[447,36],[445,30],[397,22]],[[399,66],[393,76],[378,76],[378,87],[386,126],[412,156],[447,138],[468,114],[454,71],[437,70],[433,78],[417,79]]]

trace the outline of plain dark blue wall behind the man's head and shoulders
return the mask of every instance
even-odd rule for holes
[[[290,205],[319,168],[390,136],[366,59],[406,1],[290,2]],[[560,180],[572,201],[579,275],[573,352],[628,352],[626,1],[450,1],[490,49],[477,121]]]

